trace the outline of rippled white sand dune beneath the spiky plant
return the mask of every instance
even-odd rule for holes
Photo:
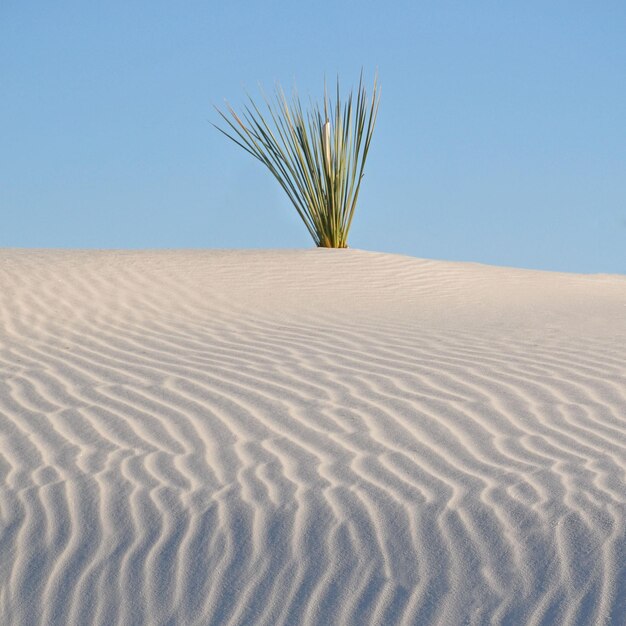
[[[0,252],[0,623],[626,624],[626,277]]]

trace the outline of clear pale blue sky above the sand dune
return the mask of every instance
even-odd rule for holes
[[[0,246],[309,247],[212,104],[361,67],[351,246],[626,273],[622,0],[2,0]]]

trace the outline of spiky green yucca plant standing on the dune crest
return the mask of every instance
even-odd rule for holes
[[[378,113],[376,78],[368,98],[361,73],[356,97],[350,92],[343,103],[337,78],[334,103],[324,85],[323,104],[311,102],[306,113],[280,85],[274,100],[263,96],[265,114],[248,99],[241,115],[216,107],[230,131],[216,128],[272,172],[317,246],[346,248]]]

